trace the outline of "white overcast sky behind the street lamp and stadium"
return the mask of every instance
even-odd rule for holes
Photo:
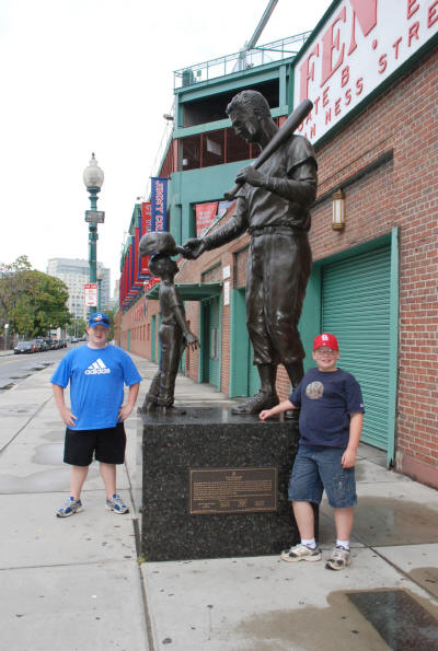
[[[238,51],[267,0],[1,0],[0,261],[88,259],[82,181],[105,174],[97,259],[120,248],[173,102],[173,70]],[[279,0],[258,45],[312,30],[331,0]]]

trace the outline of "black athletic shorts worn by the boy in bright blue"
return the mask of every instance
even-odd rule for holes
[[[123,464],[126,434],[123,422],[102,430],[66,429],[64,462],[72,466],[89,466],[94,458],[104,464]]]

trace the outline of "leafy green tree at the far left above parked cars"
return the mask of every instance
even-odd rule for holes
[[[65,327],[71,321],[67,299],[66,284],[32,269],[26,256],[0,264],[0,321],[10,324],[11,334],[33,338]]]

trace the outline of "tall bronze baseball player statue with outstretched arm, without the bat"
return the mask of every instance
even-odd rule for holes
[[[265,97],[242,91],[227,106],[235,133],[263,151],[277,136]],[[304,350],[298,332],[312,266],[308,240],[309,206],[316,196],[316,159],[311,143],[291,136],[261,166],[244,167],[235,177],[232,219],[205,237],[194,237],[184,255],[197,258],[241,235],[251,234],[246,276],[246,325],[254,348],[261,391],[233,409],[258,414],[278,404],[277,365],[286,368],[295,387],[303,375]]]

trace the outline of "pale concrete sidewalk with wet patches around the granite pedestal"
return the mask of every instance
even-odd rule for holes
[[[157,367],[132,357],[145,376],[141,404]],[[387,470],[379,451],[361,446],[359,508],[347,570],[330,572],[323,562],[293,565],[277,557],[139,566],[131,499],[138,467],[137,416],[127,421],[126,465],[118,473],[119,492],[130,514],[105,511],[104,490],[93,465],[83,491],[84,510],[73,518],[55,518],[68,492],[69,468],[61,461],[64,427],[51,398],[51,372],[49,367],[0,394],[2,648],[369,651],[438,647],[437,491]],[[178,376],[176,398],[212,404],[224,396]],[[173,535],[171,527],[169,535]],[[320,537],[325,556],[334,540],[333,518],[325,503]],[[359,597],[351,593],[368,600],[368,609],[357,605]],[[414,600],[414,605],[406,606],[406,600]],[[418,620],[412,620],[416,606],[423,623],[431,618],[426,642],[433,639],[434,646],[425,646]],[[376,617],[382,613],[379,623]],[[402,637],[404,646],[387,643],[388,635]]]

